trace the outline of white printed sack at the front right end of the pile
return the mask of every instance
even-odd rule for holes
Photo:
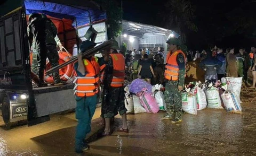
[[[225,109],[228,112],[242,114],[242,107],[240,105],[240,102],[238,101],[236,94],[233,91],[226,90],[221,95],[221,98],[223,100]]]

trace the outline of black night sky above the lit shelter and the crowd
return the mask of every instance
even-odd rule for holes
[[[123,19],[164,27],[161,21],[161,14],[159,14],[159,12],[165,7],[165,2],[166,0],[123,0]],[[246,48],[249,50],[252,45],[256,44],[255,38],[249,39],[245,36],[245,33],[238,32],[238,30],[233,34],[225,35],[225,32],[232,29],[234,24],[233,22],[227,21],[226,14],[234,10],[234,8],[238,8],[241,9],[241,13],[247,13],[244,16],[253,16],[255,17],[254,19],[256,19],[256,1],[254,3],[250,3],[250,0],[193,0],[191,2],[193,5],[196,5],[196,19],[194,22],[198,27],[198,31],[186,32],[186,45],[189,49],[202,50],[209,49],[209,47],[217,45],[218,47],[223,47],[225,49],[233,47],[238,52],[238,48]],[[234,16],[239,13],[240,12],[236,12]],[[239,21],[239,19],[237,20]],[[245,22],[245,24],[247,23]],[[253,33],[253,30],[247,33]]]

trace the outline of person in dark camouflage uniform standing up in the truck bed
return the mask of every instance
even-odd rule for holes
[[[44,82],[44,69],[46,58],[49,59],[52,67],[59,65],[59,54],[56,49],[54,38],[57,36],[57,28],[50,19],[42,18],[41,14],[30,14],[28,24],[28,39],[32,44],[33,56],[37,58],[37,75],[39,77],[39,87],[47,86]],[[34,58],[33,58],[33,62]],[[33,66],[35,71],[35,66]],[[53,73],[55,85],[61,85],[59,71]]]

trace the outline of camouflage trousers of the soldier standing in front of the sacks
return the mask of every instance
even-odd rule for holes
[[[166,114],[181,119],[182,91],[178,90],[178,81],[169,81],[165,85],[164,100],[166,103]]]

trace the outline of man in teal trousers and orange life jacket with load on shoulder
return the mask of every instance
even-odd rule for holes
[[[89,40],[83,41],[80,51],[83,53],[95,45]],[[96,109],[97,94],[100,86],[100,66],[108,63],[109,60],[108,50],[105,50],[104,53],[105,55],[101,58],[93,57],[93,55],[83,57],[82,54],[79,54],[78,61],[74,63],[76,119],[78,119],[75,138],[76,153],[82,153],[90,148],[85,143],[84,138],[91,131],[91,120]]]

